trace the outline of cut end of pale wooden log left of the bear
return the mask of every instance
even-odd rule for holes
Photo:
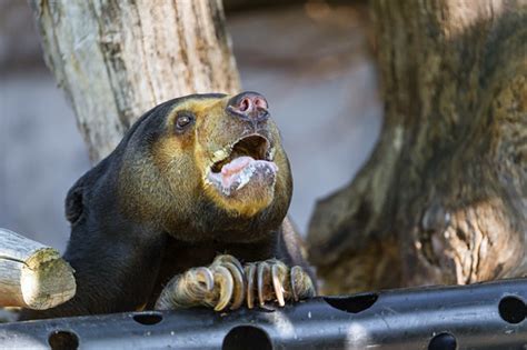
[[[74,293],[73,269],[56,249],[0,229],[0,307],[44,310]]]

